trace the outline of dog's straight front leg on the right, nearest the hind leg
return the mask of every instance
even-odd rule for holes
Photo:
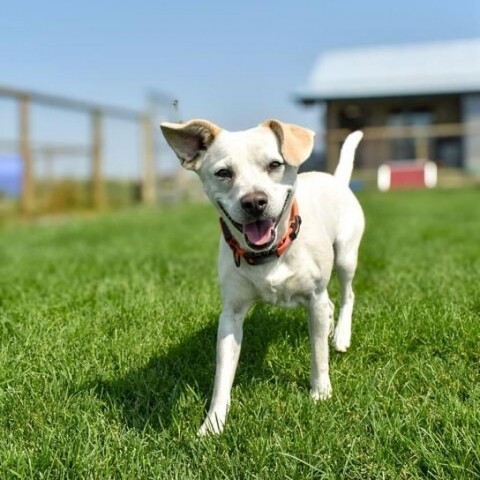
[[[328,374],[328,337],[332,328],[333,309],[327,290],[314,294],[310,300],[308,327],[311,344],[311,390],[314,400],[326,400],[332,396]]]

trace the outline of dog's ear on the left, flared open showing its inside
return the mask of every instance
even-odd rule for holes
[[[187,123],[160,124],[162,133],[172,147],[182,166],[196,170],[197,160],[215,140],[220,127],[207,120],[190,120]]]

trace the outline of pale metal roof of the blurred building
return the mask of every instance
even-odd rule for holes
[[[480,38],[333,50],[300,101],[480,92]]]

